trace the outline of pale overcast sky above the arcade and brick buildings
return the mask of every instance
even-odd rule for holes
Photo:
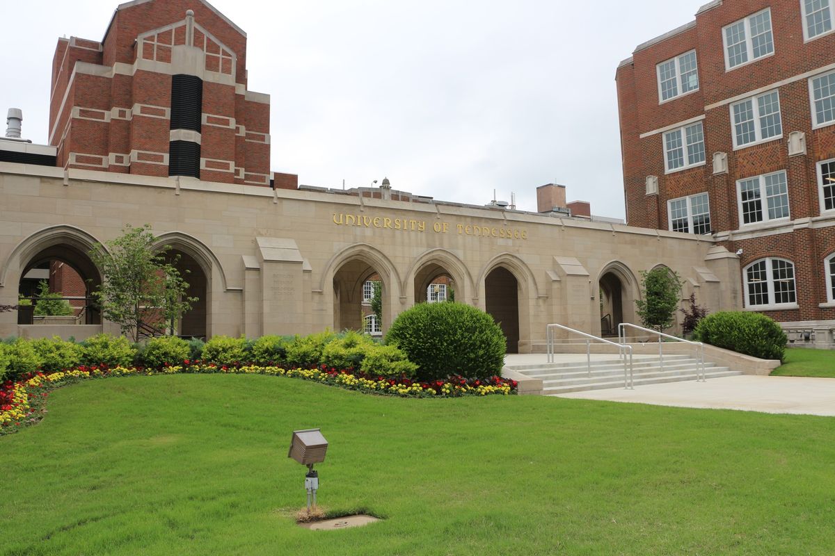
[[[623,218],[615,68],[704,2],[211,3],[247,33],[250,89],[271,95],[273,170],[458,203],[495,188],[524,210],[556,182]],[[101,40],[118,4],[0,0],[0,109],[23,108],[24,137],[47,141],[57,39]]]

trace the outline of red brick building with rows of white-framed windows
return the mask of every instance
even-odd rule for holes
[[[616,82],[627,223],[712,234],[746,309],[831,345],[835,0],[715,0]]]

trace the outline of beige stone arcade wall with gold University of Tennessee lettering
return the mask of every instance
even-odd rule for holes
[[[21,273],[38,253],[66,249],[78,256],[117,237],[127,223],[150,223],[160,244],[186,253],[205,272],[209,335],[341,328],[358,319],[354,307],[360,310],[370,273],[383,283],[385,331],[414,303],[416,277],[427,265],[453,278],[457,301],[502,313],[513,311],[507,306],[513,280],[500,272],[489,289],[485,284],[495,268],[509,271],[518,284],[521,352],[544,341],[547,323],[600,333],[599,281],[608,272],[623,285],[628,322],[635,322],[640,270],[659,264],[686,279],[683,297],[696,292],[711,311],[741,305],[736,255],[692,234],[13,163],[0,163],[0,303],[15,302]],[[0,314],[0,336],[17,333],[23,329],[15,313]]]

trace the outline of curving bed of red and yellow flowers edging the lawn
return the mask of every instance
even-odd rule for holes
[[[48,393],[69,383],[90,378],[124,377],[130,375],[177,373],[268,374],[302,378],[339,388],[402,398],[458,398],[462,396],[509,395],[516,393],[517,383],[508,378],[478,380],[453,376],[447,380],[420,383],[408,378],[369,377],[352,370],[337,370],[321,365],[318,368],[281,368],[261,365],[217,365],[186,359],[180,365],[166,365],[159,370],[141,367],[109,368],[107,365],[81,366],[58,373],[29,374],[18,382],[0,385],[0,435],[37,423],[47,413]]]

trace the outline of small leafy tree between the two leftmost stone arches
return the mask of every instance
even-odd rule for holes
[[[166,261],[170,246],[154,250],[155,241],[149,224],[128,225],[119,238],[107,242],[109,253],[101,246],[90,252],[104,278],[93,296],[104,317],[119,324],[134,342],[139,341],[143,325],[162,328],[197,301],[185,295],[189,284],[175,267],[179,257],[173,263]]]

